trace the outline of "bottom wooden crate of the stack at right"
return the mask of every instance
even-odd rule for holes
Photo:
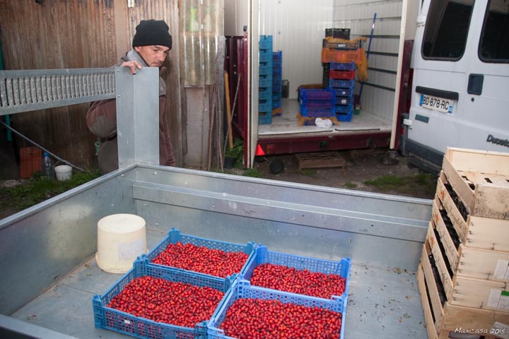
[[[426,241],[427,242],[427,241]],[[451,332],[459,329],[476,329],[485,338],[499,338],[494,335],[496,323],[509,324],[509,313],[490,309],[478,309],[452,304],[440,297],[435,275],[428,258],[428,249],[423,246],[421,263],[417,270],[417,283],[423,305],[428,338],[449,338]],[[438,280],[438,277],[437,277]]]

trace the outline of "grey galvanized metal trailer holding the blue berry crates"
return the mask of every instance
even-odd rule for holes
[[[146,220],[149,249],[176,227],[288,254],[348,256],[345,338],[426,338],[415,271],[431,201],[155,165],[157,77],[157,69],[0,72],[2,115],[117,97],[120,164],[0,220],[0,338],[129,338],[93,319],[93,295],[121,278],[94,258],[97,222],[114,213]]]

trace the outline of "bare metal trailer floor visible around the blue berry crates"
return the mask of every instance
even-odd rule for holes
[[[147,227],[148,249],[167,232]],[[94,327],[93,295],[102,295],[120,278],[100,270],[90,258],[11,317],[76,338],[132,338]],[[365,266],[352,258],[344,326],[345,339],[427,338],[416,273]]]

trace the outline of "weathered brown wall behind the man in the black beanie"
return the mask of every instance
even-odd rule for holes
[[[141,19],[164,19],[177,42],[175,0],[0,0],[0,41],[5,69],[80,69],[115,64],[131,46]],[[182,160],[178,44],[170,52],[166,81],[170,133]],[[79,167],[93,167],[96,137],[86,126],[88,104],[13,114],[12,126]],[[6,141],[1,141],[2,143]],[[30,145],[16,138],[16,150]]]

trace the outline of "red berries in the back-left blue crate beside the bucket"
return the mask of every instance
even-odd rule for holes
[[[153,263],[226,278],[240,273],[249,258],[243,252],[227,252],[194,244],[169,244]]]

